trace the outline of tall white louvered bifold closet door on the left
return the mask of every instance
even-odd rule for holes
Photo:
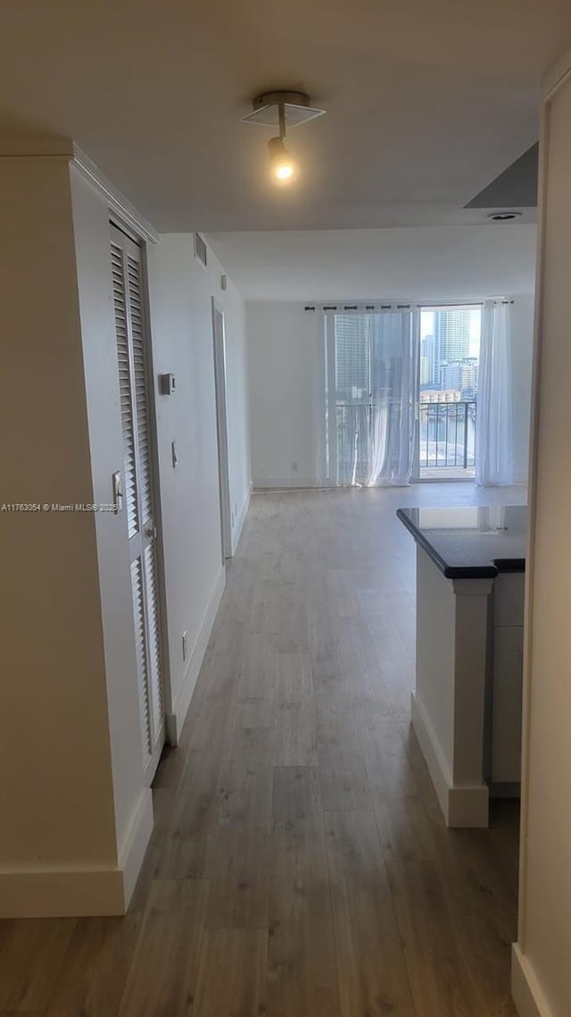
[[[143,767],[150,781],[165,741],[165,710],[142,265],[140,248],[115,226],[111,226],[111,263]]]

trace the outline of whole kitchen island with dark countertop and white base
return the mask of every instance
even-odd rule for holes
[[[411,723],[450,827],[520,782],[522,505],[399,508],[417,542]]]

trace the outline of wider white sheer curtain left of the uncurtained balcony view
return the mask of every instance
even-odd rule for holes
[[[384,305],[328,315],[328,465],[333,483],[409,483],[418,344],[416,307]]]

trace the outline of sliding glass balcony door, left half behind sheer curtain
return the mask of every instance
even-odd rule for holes
[[[481,327],[479,304],[325,314],[328,483],[473,478]]]

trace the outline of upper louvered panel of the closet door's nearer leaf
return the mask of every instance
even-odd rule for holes
[[[131,394],[123,251],[121,247],[118,247],[117,244],[114,243],[111,244],[111,267],[113,274],[113,302],[115,308],[115,333],[117,337],[117,362],[119,367],[121,427],[123,431],[124,498],[125,510],[127,512],[127,528],[129,538],[131,538],[138,533],[139,529],[135,474],[135,428],[133,420],[133,399]]]

